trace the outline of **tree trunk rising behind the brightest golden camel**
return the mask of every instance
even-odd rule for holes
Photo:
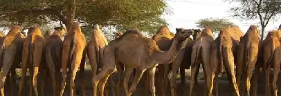
[[[75,4],[75,0],[70,0],[69,1],[69,14],[66,17],[66,29],[70,30],[71,28],[71,23],[73,23],[73,20],[75,18],[75,9],[76,9],[76,4]]]

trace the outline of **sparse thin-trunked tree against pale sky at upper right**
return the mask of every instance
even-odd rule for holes
[[[264,38],[264,29],[269,24],[269,21],[276,15],[281,13],[280,0],[226,0],[230,2],[241,3],[230,10],[234,17],[240,19],[259,19],[262,28],[261,38]]]

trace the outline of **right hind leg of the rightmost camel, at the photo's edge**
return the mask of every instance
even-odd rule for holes
[[[276,54],[277,53],[277,54]],[[275,56],[274,56],[274,60],[273,60],[273,81],[272,81],[272,88],[273,88],[273,95],[274,96],[278,96],[278,86],[277,84],[277,80],[278,80],[278,73],[280,70],[280,64],[281,64],[281,60],[280,57],[277,57],[276,55],[280,55],[280,52],[277,50],[277,52],[275,52]]]

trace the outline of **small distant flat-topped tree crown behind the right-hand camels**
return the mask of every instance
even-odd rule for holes
[[[218,32],[221,27],[233,26],[233,23],[228,21],[228,19],[199,19],[196,22],[199,28],[204,28],[205,26],[212,27],[213,32]]]

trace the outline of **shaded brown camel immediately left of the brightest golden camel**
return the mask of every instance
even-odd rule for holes
[[[55,31],[46,42],[46,65],[51,75],[53,84],[53,96],[58,95],[60,91],[60,69],[62,68],[62,37],[66,34],[66,29],[62,27],[55,28]]]

